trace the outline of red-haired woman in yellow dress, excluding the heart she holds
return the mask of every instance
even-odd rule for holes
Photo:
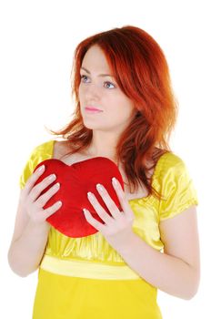
[[[162,318],[157,288],[189,300],[200,276],[196,190],[167,142],[176,99],[166,58],[152,36],[124,26],[82,41],[72,75],[74,118],[53,132],[65,140],[35,147],[20,178],[10,266],[21,276],[39,268],[34,319]],[[123,211],[101,185],[111,214],[88,195],[104,223],[84,211],[97,232],[67,237],[45,221],[62,203],[43,209],[59,186],[39,196],[56,177],[35,185],[44,172],[35,167],[98,156],[121,172],[124,190],[113,187]]]

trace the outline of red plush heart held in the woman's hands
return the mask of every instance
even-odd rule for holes
[[[35,167],[35,170],[43,164],[45,164],[45,171],[39,179],[36,180],[35,185],[45,179],[46,176],[55,173],[56,180],[53,182],[59,182],[60,189],[45,203],[43,208],[46,209],[52,206],[56,201],[63,202],[61,208],[46,219],[46,221],[59,232],[69,237],[85,237],[97,232],[97,230],[85,220],[83,208],[90,211],[97,221],[104,223],[96,213],[91,202],[87,199],[87,192],[91,191],[95,194],[97,201],[99,201],[105,211],[110,214],[106,203],[95,188],[97,183],[104,185],[112,200],[115,201],[116,206],[122,211],[116,190],[112,185],[112,178],[116,177],[116,179],[119,180],[123,190],[124,182],[116,163],[112,160],[104,157],[96,157],[89,160],[82,160],[72,165],[66,165],[61,160],[49,159],[40,162]],[[44,194],[46,190],[49,190],[52,187],[52,183],[48,185],[39,196]]]

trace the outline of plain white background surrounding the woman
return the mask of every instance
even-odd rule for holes
[[[31,318],[37,273],[21,278],[7,263],[19,177],[32,149],[54,139],[73,110],[75,46],[113,27],[143,28],[163,48],[179,101],[171,148],[186,161],[198,190],[201,282],[182,300],[158,292],[164,319],[208,318],[210,304],[210,15],[209,1],[1,1],[1,263],[3,318]],[[179,232],[179,230],[178,230]],[[156,270],[156,265],[155,265]],[[3,299],[4,297],[4,299]],[[203,312],[203,314],[202,314]],[[45,319],[45,318],[40,318]]]

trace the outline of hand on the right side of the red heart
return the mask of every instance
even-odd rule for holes
[[[114,189],[116,190],[116,195],[123,211],[119,211],[119,209],[116,207],[116,203],[111,199],[103,185],[101,185],[101,187],[103,187],[102,190],[100,189],[100,187],[97,186],[96,190],[98,190],[103,201],[105,201],[106,206],[112,216],[110,216],[99,204],[94,194],[92,194],[92,196],[88,196],[88,200],[95,208],[95,211],[99,215],[101,220],[105,221],[105,224],[100,221],[96,221],[89,211],[85,209],[83,211],[85,213],[86,221],[88,221],[93,227],[95,227],[97,231],[101,232],[105,236],[107,242],[109,242],[116,250],[118,250],[122,248],[125,243],[128,244],[130,236],[134,234],[132,225],[135,216],[134,212],[130,208],[128,201],[126,200],[126,194],[122,189],[121,184],[118,182],[118,180],[116,180],[116,183],[112,182],[112,184]],[[88,192],[88,194],[89,193],[90,192]]]

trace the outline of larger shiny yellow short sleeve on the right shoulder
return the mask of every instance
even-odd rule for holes
[[[169,153],[161,173],[163,198],[159,205],[159,218],[172,218],[192,205],[197,205],[197,193],[186,164],[178,156]]]

